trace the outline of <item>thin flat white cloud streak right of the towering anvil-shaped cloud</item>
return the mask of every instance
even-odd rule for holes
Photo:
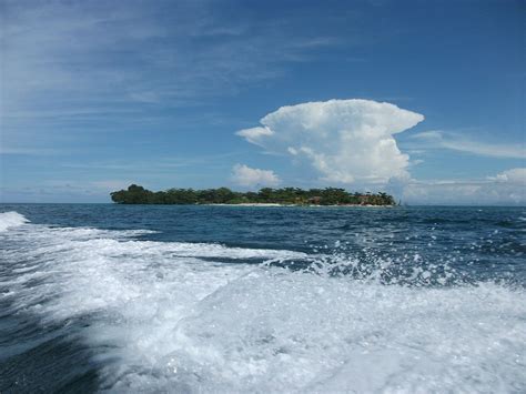
[[[466,137],[448,133],[441,130],[424,131],[413,135],[419,142],[419,147],[431,149],[449,149],[482,156],[524,159],[526,149],[523,144],[502,144],[473,141]]]

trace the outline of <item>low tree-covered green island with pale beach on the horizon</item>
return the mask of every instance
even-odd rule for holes
[[[169,189],[152,192],[132,184],[128,190],[110,193],[119,204],[227,204],[227,205],[343,205],[343,206],[392,206],[395,200],[387,193],[350,193],[345,189],[263,188],[257,192],[236,192],[219,189]]]

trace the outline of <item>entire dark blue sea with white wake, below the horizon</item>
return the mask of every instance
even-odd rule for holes
[[[526,392],[525,208],[0,205],[0,392]]]

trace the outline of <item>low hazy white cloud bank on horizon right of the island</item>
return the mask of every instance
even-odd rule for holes
[[[405,185],[402,199],[424,204],[526,204],[526,168],[478,181],[412,181]]]

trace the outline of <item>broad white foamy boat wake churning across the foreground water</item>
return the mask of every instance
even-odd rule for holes
[[[523,290],[382,285],[231,264],[224,259],[308,256],[131,234],[29,225],[1,235],[27,245],[3,253],[19,270],[0,283],[4,297],[43,323],[88,316],[82,336],[101,348],[105,390],[526,390]]]

